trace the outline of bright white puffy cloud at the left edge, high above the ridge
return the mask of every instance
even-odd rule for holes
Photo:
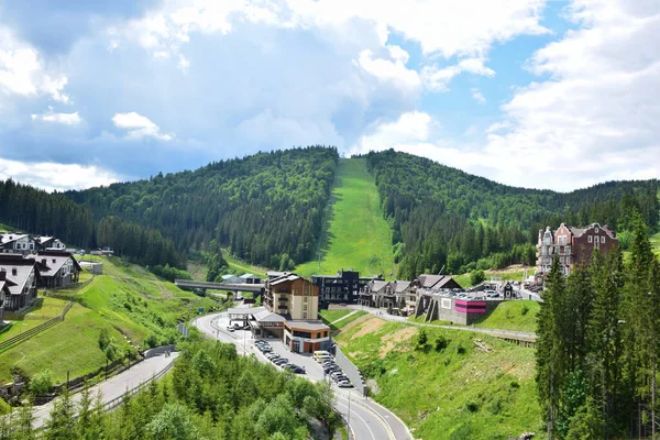
[[[66,84],[66,76],[50,72],[36,50],[0,28],[1,91],[28,97],[45,95],[57,102],[69,103],[70,98],[63,91]]]

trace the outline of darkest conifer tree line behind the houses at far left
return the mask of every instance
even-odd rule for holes
[[[95,221],[91,210],[58,193],[0,180],[0,222],[22,232],[52,235],[84,249],[112,248],[144,265],[185,267],[186,258],[160,231],[116,217]]]

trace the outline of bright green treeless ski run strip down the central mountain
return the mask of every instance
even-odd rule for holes
[[[392,230],[383,218],[373,177],[364,158],[340,158],[332,213],[322,261],[296,267],[301,276],[333,274],[349,267],[363,275],[396,273],[392,254]],[[391,275],[392,274],[392,275]]]

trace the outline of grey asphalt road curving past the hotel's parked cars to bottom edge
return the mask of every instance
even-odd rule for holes
[[[194,324],[202,332],[223,342],[234,343],[239,354],[254,356],[264,363],[270,363],[254,345],[252,333],[246,330],[227,331],[229,318],[226,312],[207,315],[197,318]],[[309,381],[323,381],[321,366],[310,354],[289,352],[282,341],[270,339],[273,351],[287,358],[290,362],[305,366]],[[356,440],[411,440],[406,425],[393,413],[373,402],[364,398],[355,389],[342,389],[331,384],[334,389],[334,408],[349,421],[353,438]],[[349,409],[350,408],[350,409]]]

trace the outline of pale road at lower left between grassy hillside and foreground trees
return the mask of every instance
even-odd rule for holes
[[[174,360],[178,353],[172,353],[170,356],[154,356],[150,358],[145,361],[140,362],[139,364],[132,366],[123,373],[120,373],[116,376],[110,377],[106,382],[101,382],[98,385],[95,385],[90,388],[91,398],[95,399],[97,394],[101,393],[101,402],[107,404],[118,397],[121,397],[127,391],[133,389],[140,384],[148,381],[157,373],[167,367]],[[72,396],[72,400],[74,403],[80,402],[82,395],[80,393],[74,394]],[[53,410],[52,400],[46,405],[34,407],[34,427],[41,428],[46,421],[48,421],[48,417],[51,411]]]

